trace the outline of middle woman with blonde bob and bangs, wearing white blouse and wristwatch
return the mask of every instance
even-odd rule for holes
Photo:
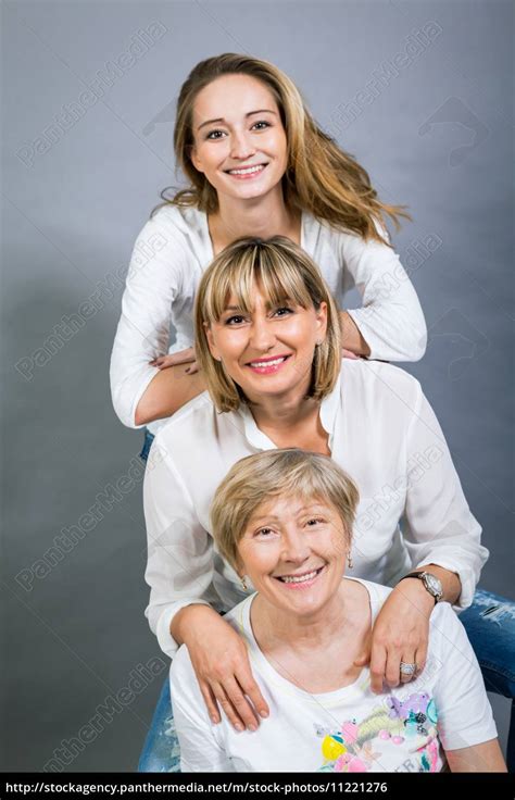
[[[196,341],[209,391],[160,430],[143,487],[146,614],[161,648],[173,657],[187,645],[213,721],[222,707],[235,727],[255,729],[268,714],[244,642],[218,613],[244,592],[213,546],[209,508],[239,459],[297,447],[330,455],[359,487],[350,573],[393,587],[372,632],[372,689],[410,680],[435,603],[469,607],[488,557],[420,385],[390,364],[341,359],[335,301],[286,237],[238,240],[216,257],[199,286]]]

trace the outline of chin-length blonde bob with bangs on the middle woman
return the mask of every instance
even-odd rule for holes
[[[211,354],[204,323],[210,326],[219,322],[231,295],[244,313],[251,313],[256,283],[274,307],[289,299],[304,309],[318,311],[322,302],[327,303],[326,336],[314,350],[307,397],[322,400],[334,389],[340,373],[339,312],[316,264],[286,236],[242,237],[211,262],[200,280],[194,303],[197,360],[219,412],[236,411],[247,398],[223,364]]]

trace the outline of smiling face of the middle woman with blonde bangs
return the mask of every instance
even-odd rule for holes
[[[285,299],[271,304],[258,283],[254,307],[238,308],[231,295],[218,321],[204,323],[211,354],[250,402],[288,397],[310,388],[314,351],[326,335],[327,303],[304,309]]]

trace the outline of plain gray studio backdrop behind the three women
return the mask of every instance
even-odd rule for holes
[[[134,241],[175,182],[175,98],[209,55],[285,70],[380,197],[410,207],[392,235],[429,345],[406,368],[483,526],[481,585],[513,593],[511,14],[456,1],[3,4],[3,770],[135,771],[167,675],[143,616],[142,436],[112,410],[109,360]],[[508,703],[492,702],[505,737]]]

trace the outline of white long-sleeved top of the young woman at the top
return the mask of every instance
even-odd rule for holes
[[[388,239],[386,228],[376,227]],[[349,311],[370,348],[370,359],[417,361],[424,355],[427,329],[415,289],[399,255],[378,241],[365,242],[302,214],[301,247],[321,268],[336,302],[354,286],[363,308]],[[149,361],[191,347],[193,301],[200,279],[213,260],[204,212],[166,205],[138,236],[111,355],[111,395],[124,425],[136,425],[138,402],[159,368]],[[169,346],[171,324],[176,340]],[[155,434],[164,420],[148,425]]]

